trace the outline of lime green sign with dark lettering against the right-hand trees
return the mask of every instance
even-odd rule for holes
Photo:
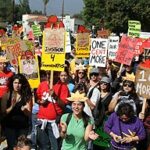
[[[128,21],[128,36],[139,37],[141,32],[141,23],[136,20]]]

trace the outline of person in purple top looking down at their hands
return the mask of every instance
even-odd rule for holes
[[[112,137],[110,150],[136,150],[138,141],[146,136],[143,122],[129,103],[119,105],[106,121],[104,130]]]

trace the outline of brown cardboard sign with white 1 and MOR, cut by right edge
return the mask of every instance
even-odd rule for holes
[[[150,68],[137,68],[136,92],[144,98],[150,98]]]

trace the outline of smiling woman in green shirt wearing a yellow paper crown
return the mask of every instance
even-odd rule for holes
[[[86,150],[88,140],[95,140],[98,135],[93,131],[93,121],[83,111],[85,94],[78,91],[68,98],[72,101],[71,115],[64,114],[61,118],[61,137],[63,138],[61,150]],[[68,117],[70,117],[68,121]]]

